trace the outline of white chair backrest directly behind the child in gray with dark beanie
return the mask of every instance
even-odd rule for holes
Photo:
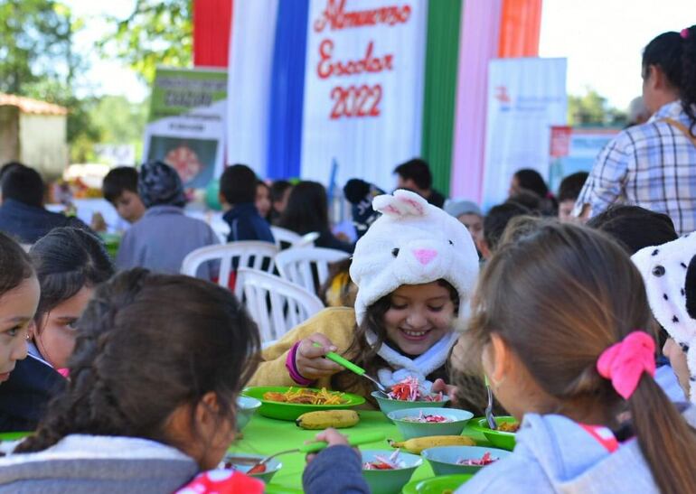
[[[276,255],[277,247],[268,242],[230,242],[219,246],[201,247],[183,258],[182,274],[195,276],[203,263],[219,261],[218,284],[229,287],[230,274],[238,267],[252,267],[273,273]],[[235,294],[239,294],[237,289]]]

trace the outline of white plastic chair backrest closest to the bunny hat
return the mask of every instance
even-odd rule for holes
[[[278,273],[287,281],[316,294],[329,277],[329,265],[348,257],[350,254],[333,248],[288,248],[278,253],[276,266]]]

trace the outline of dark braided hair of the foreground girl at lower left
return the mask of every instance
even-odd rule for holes
[[[256,369],[259,331],[228,290],[136,268],[102,284],[83,313],[66,393],[15,452],[38,452],[72,433],[174,444],[165,424],[180,405],[217,396],[221,423]]]

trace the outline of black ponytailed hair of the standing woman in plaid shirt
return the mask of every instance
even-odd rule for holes
[[[691,121],[691,135],[696,137],[696,25],[683,29],[681,33],[662,33],[649,42],[643,51],[644,79],[651,65],[659,66],[679,91],[684,113]]]

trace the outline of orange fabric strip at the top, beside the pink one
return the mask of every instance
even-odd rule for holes
[[[499,58],[538,57],[541,0],[503,0]]]

